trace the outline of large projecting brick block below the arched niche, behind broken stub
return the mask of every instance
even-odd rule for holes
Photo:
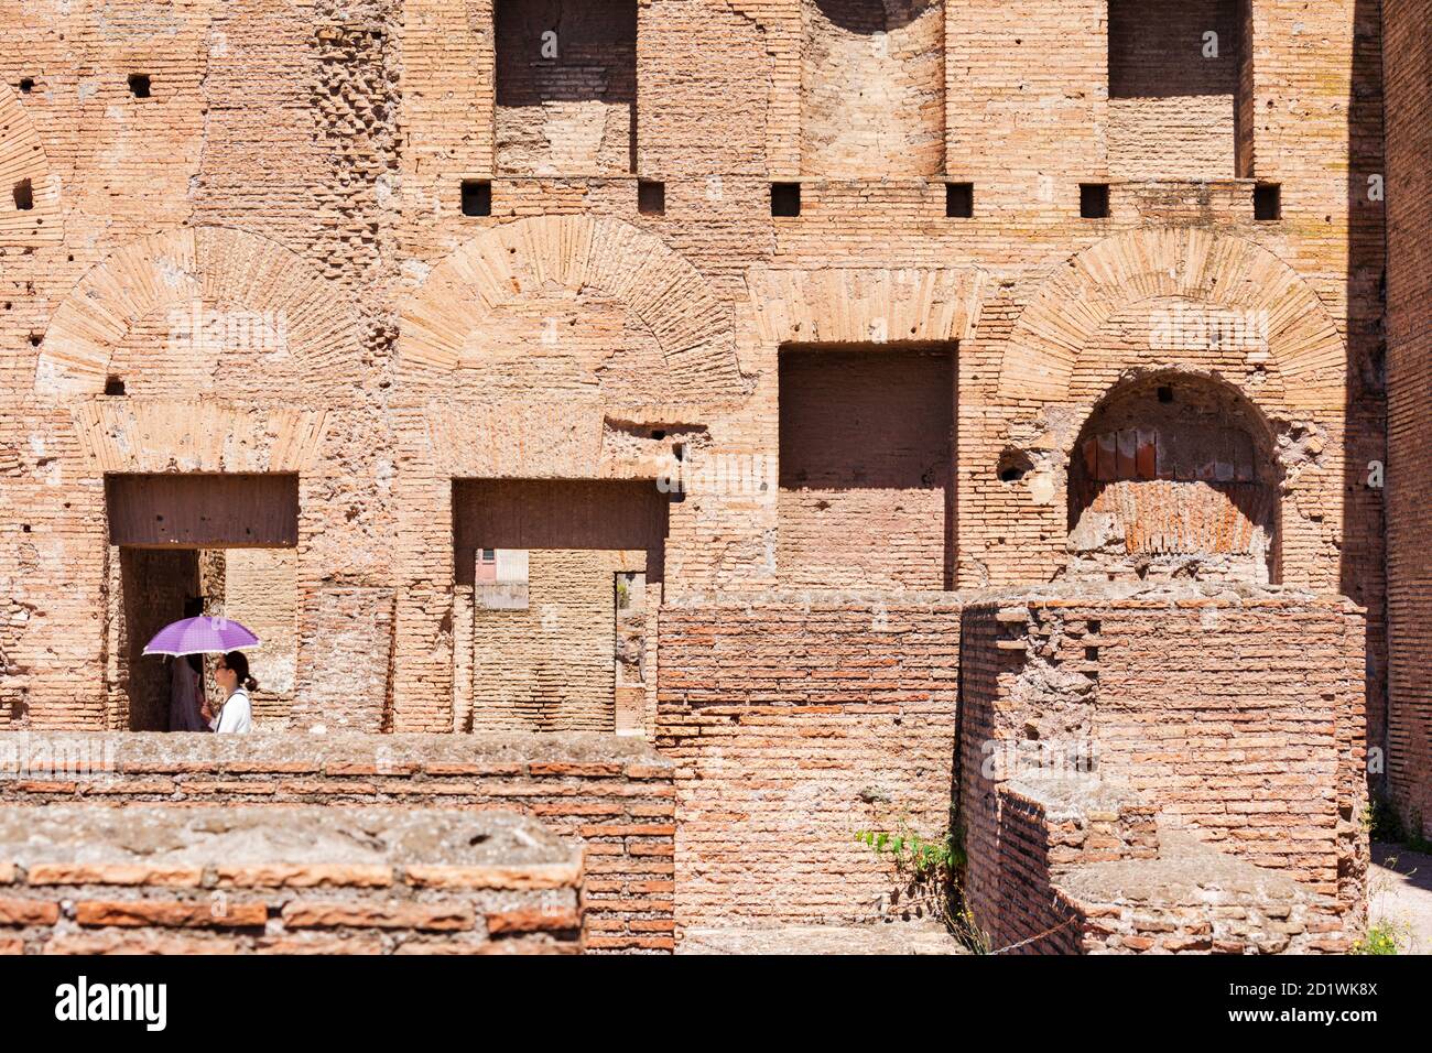
[[[1194,885],[1233,867],[1262,888],[1272,871],[1277,897],[1355,931],[1366,875],[1362,633],[1346,600],[1283,590],[1044,590],[967,607],[959,824],[979,924],[995,940],[1038,936],[1010,918],[1065,920],[1050,913],[1061,871],[1167,861],[1166,841],[1191,838],[1216,850],[1194,852],[1209,870]],[[1018,784],[1050,772],[1085,784],[1063,802],[1080,822],[1117,827],[1151,811],[1154,855],[1106,831],[1091,842],[1101,854],[1061,858],[1042,840],[1047,814],[1031,832],[1040,792]],[[1035,880],[1015,865],[1028,855],[1012,847],[1021,840],[1042,844]],[[1138,950],[1143,937],[1128,934]]]

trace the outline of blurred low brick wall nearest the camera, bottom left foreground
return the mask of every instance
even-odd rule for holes
[[[580,898],[513,812],[0,808],[0,953],[576,954]]]

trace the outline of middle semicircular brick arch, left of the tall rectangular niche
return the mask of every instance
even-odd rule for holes
[[[460,245],[402,312],[402,371],[450,371],[488,312],[544,285],[593,289],[650,330],[686,390],[727,400],[743,393],[730,308],[702,274],[659,238],[619,219],[536,216]]]

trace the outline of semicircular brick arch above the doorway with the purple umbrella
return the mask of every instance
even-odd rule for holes
[[[86,274],[50,319],[36,393],[103,394],[110,357],[158,311],[192,302],[281,312],[305,375],[344,388],[358,374],[358,315],[348,295],[278,242],[222,226],[166,231],[126,245]],[[294,397],[304,393],[281,393]]]

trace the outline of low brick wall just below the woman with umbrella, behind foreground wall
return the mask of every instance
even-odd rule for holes
[[[0,735],[0,804],[511,809],[586,848],[586,948],[674,947],[674,765],[561,735]]]

